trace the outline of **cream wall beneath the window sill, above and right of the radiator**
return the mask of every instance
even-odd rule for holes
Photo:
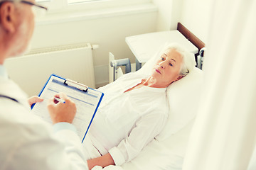
[[[134,55],[124,38],[154,32],[156,16],[157,10],[153,10],[87,18],[82,21],[39,24],[36,25],[33,35],[32,49],[80,42],[100,45],[100,48],[93,52],[96,86],[100,86],[108,81],[108,52],[112,52],[117,59],[129,57],[131,62],[134,62]]]

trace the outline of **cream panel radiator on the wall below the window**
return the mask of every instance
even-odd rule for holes
[[[9,77],[28,96],[38,95],[50,74],[95,88],[90,43],[32,50],[21,57],[7,59],[4,66]]]

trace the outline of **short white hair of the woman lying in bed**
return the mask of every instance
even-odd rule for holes
[[[193,67],[195,67],[196,65],[195,56],[193,55],[193,53],[188,52],[184,47],[182,47],[181,45],[178,45],[177,43],[171,43],[167,45],[164,48],[164,51],[171,50],[171,49],[174,49],[179,54],[181,54],[183,62],[181,64],[180,75],[186,76],[186,74],[188,74],[188,72],[190,72],[193,69]]]

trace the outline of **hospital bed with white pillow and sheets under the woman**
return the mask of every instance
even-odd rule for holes
[[[200,104],[200,92],[203,80],[203,72],[201,68],[203,65],[203,52],[205,50],[205,48],[202,48],[195,57],[197,67],[194,67],[186,77],[174,82],[167,88],[166,97],[169,101],[169,118],[164,130],[156,136],[136,158],[116,169],[182,169],[188,138]],[[152,57],[146,64],[144,64],[142,69],[139,69],[137,72],[143,74],[150,73],[151,68],[155,63],[155,58],[156,57]],[[114,55],[110,53],[110,64],[112,66],[110,74],[115,74],[115,76],[110,76],[110,79],[118,79],[118,77],[123,74],[118,66],[126,66],[127,59],[114,60]],[[125,72],[130,72],[131,68],[130,66],[128,67],[129,68],[126,69]],[[105,169],[115,168],[110,167]]]

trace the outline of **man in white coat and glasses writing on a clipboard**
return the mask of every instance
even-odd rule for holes
[[[27,96],[8,78],[3,67],[8,57],[21,55],[34,28],[32,8],[47,9],[34,0],[0,0],[0,169],[48,170],[87,169],[81,142],[71,124],[75,104],[49,101],[50,126],[30,113]],[[17,70],[18,72],[18,70]],[[22,76],[22,75],[21,75]],[[68,115],[68,116],[67,116]]]

